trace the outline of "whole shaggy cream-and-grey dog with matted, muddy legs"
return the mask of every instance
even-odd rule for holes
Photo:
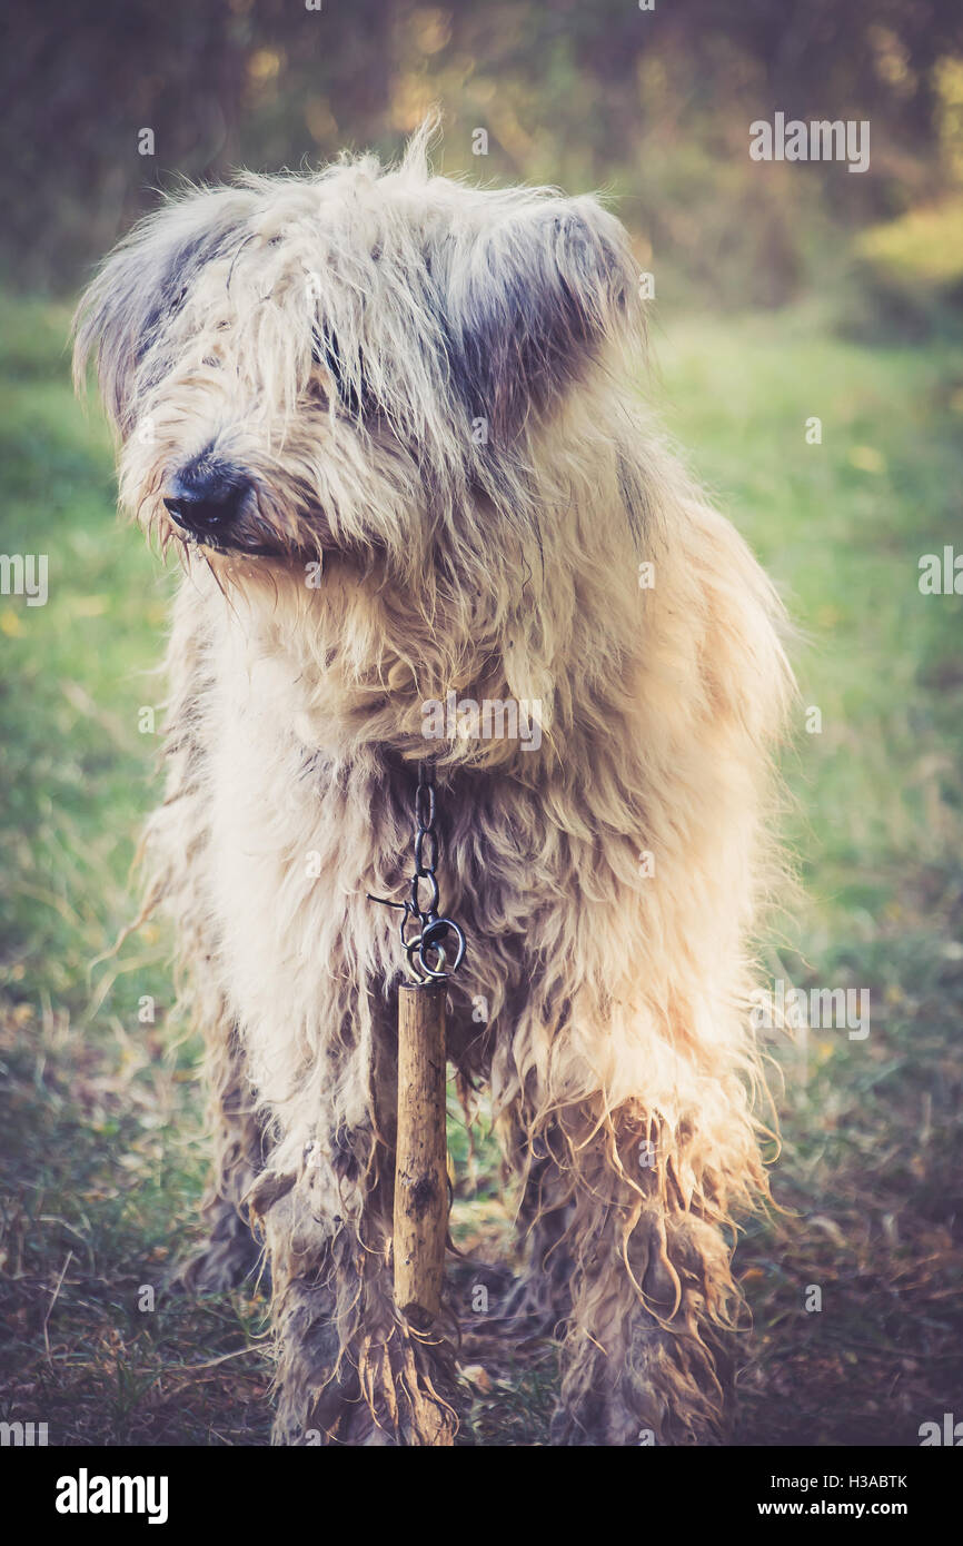
[[[82,303],[122,504],[185,567],[147,906],[209,1044],[189,1277],[249,1271],[254,1221],[280,1442],[458,1421],[456,1331],[393,1302],[400,952],[369,900],[403,895],[427,756],[470,942],[450,1057],[490,1090],[522,1232],[495,1308],[560,1339],[552,1439],[725,1433],[790,677],[770,583],[640,410],[638,289],[595,199],[434,176],[420,133],[396,169],[168,201]],[[538,734],[439,727],[448,694]],[[450,1288],[447,1325],[467,1308]]]

